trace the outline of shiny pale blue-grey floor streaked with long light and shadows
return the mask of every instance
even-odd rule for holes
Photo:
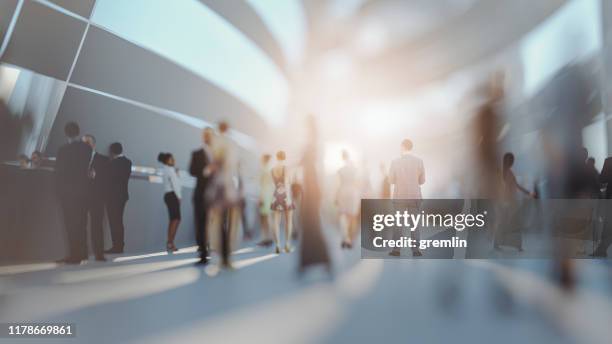
[[[607,261],[576,261],[568,293],[546,260],[361,260],[358,249],[338,249],[333,278],[316,270],[298,278],[297,252],[247,246],[234,254],[235,270],[218,271],[195,267],[194,251],[0,267],[0,323],[76,324],[74,339],[19,343],[612,340]]]

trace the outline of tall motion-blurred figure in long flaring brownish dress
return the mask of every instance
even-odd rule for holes
[[[302,156],[303,196],[300,209],[302,237],[300,240],[300,260],[298,273],[323,265],[331,274],[331,261],[321,229],[321,190],[318,174],[318,131],[313,115],[306,119],[307,145]]]

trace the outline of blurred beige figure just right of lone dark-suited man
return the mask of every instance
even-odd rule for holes
[[[230,138],[229,125],[219,123],[219,135],[212,144],[212,171],[214,176],[207,190],[211,233],[219,234],[220,265],[231,269],[230,253],[237,237],[240,221],[240,191],[235,179],[238,177],[238,160]]]

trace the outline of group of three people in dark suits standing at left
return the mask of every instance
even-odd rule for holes
[[[123,155],[123,146],[112,143],[109,155],[96,150],[93,135],[80,135],[78,124],[66,124],[68,143],[60,147],[55,174],[57,194],[66,229],[67,256],[59,262],[80,264],[88,260],[87,220],[91,223],[91,247],[97,261],[105,253],[119,254],[124,249],[123,214],[129,199],[128,183],[132,162]],[[104,250],[104,214],[112,238],[112,247]]]

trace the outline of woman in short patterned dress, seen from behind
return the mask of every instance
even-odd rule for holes
[[[276,245],[275,252],[280,253],[280,224],[281,216],[285,217],[285,247],[286,253],[291,252],[291,230],[293,228],[293,199],[291,197],[291,190],[288,188],[288,173],[287,166],[285,165],[286,155],[284,151],[278,151],[276,153],[277,164],[270,171],[272,180],[274,182],[274,200],[270,205],[272,210],[272,237],[274,238],[274,244]]]

